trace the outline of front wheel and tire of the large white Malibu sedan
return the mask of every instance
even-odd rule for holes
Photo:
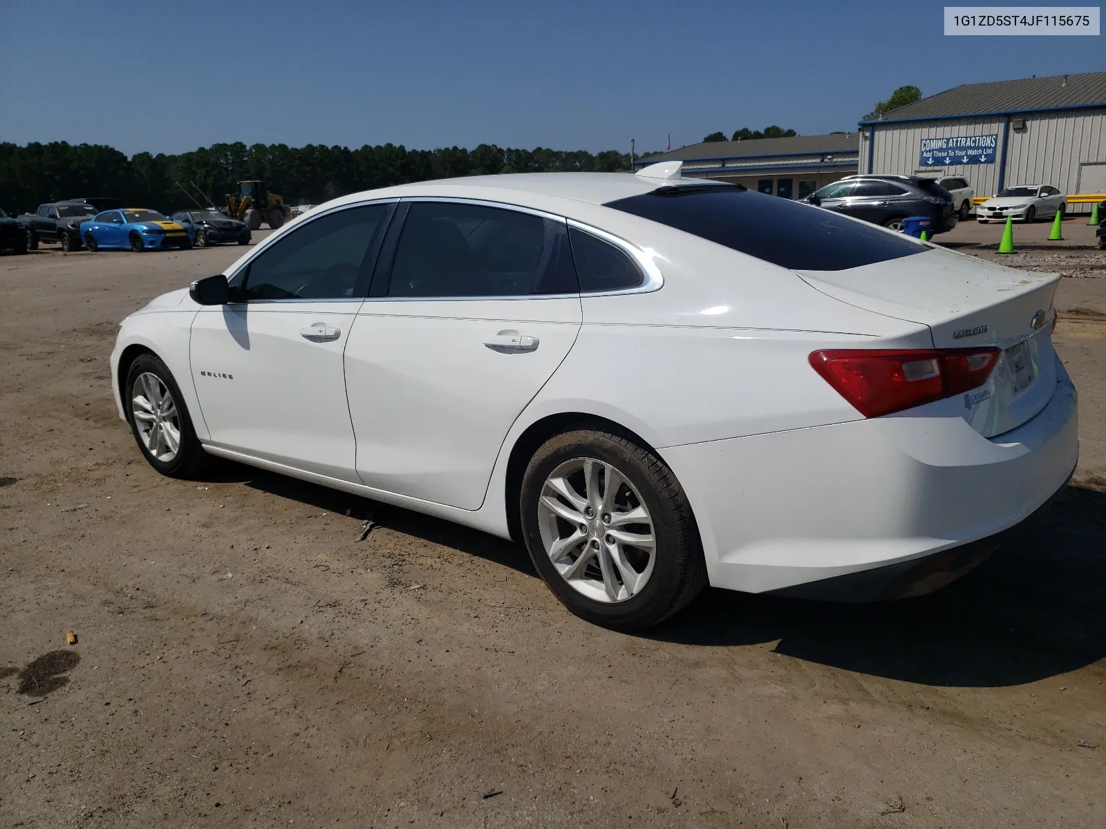
[[[123,386],[127,422],[150,466],[169,478],[190,478],[207,463],[184,396],[173,374],[153,354],[142,354]]]

